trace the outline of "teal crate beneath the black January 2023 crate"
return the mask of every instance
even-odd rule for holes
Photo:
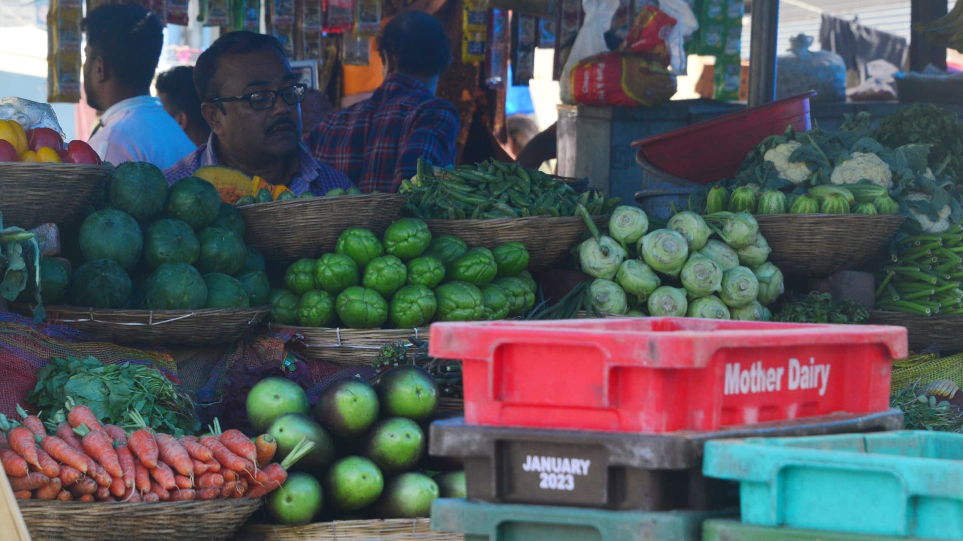
[[[506,503],[435,500],[431,529],[465,541],[698,541],[702,522],[735,511],[609,511]]]

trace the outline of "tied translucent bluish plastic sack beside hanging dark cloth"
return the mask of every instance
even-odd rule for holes
[[[811,101],[845,101],[843,57],[828,51],[810,51],[813,39],[805,34],[790,43],[789,54],[780,56],[776,63],[776,99],[816,90]]]

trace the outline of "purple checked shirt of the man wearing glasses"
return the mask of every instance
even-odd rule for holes
[[[179,179],[191,176],[194,174],[194,171],[200,167],[220,166],[221,160],[219,160],[215,154],[212,142],[214,142],[213,133],[207,142],[198,146],[194,152],[188,154],[180,162],[177,162],[168,170],[164,171],[164,175],[168,177],[168,184],[173,184]],[[288,183],[288,189],[294,192],[295,195],[300,195],[309,190],[315,195],[324,195],[332,188],[344,188],[347,190],[354,186],[341,171],[327,167],[324,164],[319,164],[307,153],[307,149],[304,148],[302,143],[298,144],[298,159],[300,162],[300,171],[291,182]]]

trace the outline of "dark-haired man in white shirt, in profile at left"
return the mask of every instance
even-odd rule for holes
[[[154,13],[132,4],[108,4],[84,19],[84,90],[102,111],[90,144],[105,162],[149,162],[161,170],[193,152],[196,145],[150,95],[164,43],[164,26]]]

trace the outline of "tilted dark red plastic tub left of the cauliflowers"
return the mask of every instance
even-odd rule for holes
[[[633,142],[645,161],[696,184],[731,178],[752,148],[787,126],[810,129],[809,98],[816,92],[774,101],[732,115],[692,124]]]

